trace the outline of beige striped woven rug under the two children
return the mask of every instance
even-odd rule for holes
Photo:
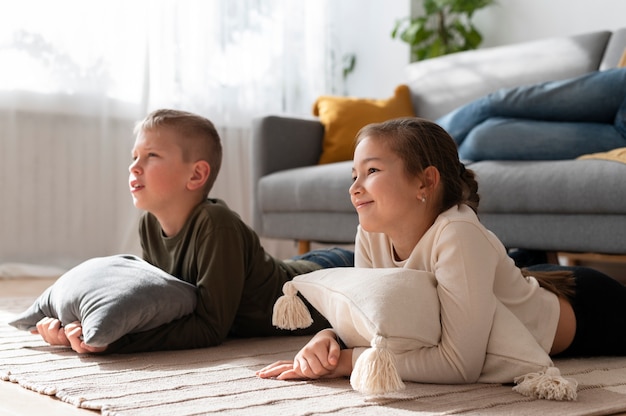
[[[0,378],[103,415],[606,415],[626,411],[626,358],[558,361],[578,400],[532,400],[501,385],[407,383],[369,401],[347,379],[285,382],[254,372],[307,338],[231,340],[207,349],[78,356],[6,324],[32,299],[0,299]],[[36,394],[36,393],[33,393]],[[51,399],[52,400],[52,399]]]

